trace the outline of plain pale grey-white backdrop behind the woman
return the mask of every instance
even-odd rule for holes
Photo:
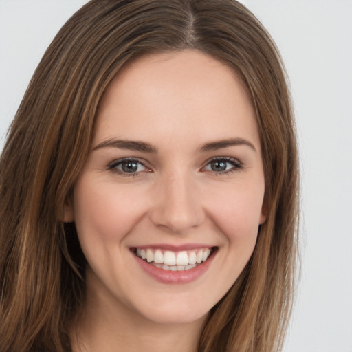
[[[0,150],[46,47],[85,2],[0,0]],[[352,1],[241,2],[281,50],[298,127],[302,272],[284,352],[352,352]]]

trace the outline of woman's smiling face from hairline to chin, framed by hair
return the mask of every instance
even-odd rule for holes
[[[195,50],[137,59],[102,98],[65,210],[87,294],[158,323],[204,317],[250,259],[263,195],[254,109],[232,69]]]

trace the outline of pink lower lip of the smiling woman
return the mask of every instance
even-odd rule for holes
[[[212,254],[210,254],[209,258],[205,262],[197,265],[196,267],[193,267],[192,269],[180,270],[175,272],[155,267],[154,265],[147,263],[135,254],[133,254],[133,256],[135,257],[139,265],[142,267],[142,269],[148,275],[152,276],[153,278],[155,278],[155,280],[159,281],[160,283],[182,284],[191,283],[192,281],[197,280],[199,276],[204,274],[209,269],[215,254],[216,251],[212,251]]]

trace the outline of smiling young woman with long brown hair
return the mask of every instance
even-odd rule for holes
[[[1,351],[280,349],[297,169],[283,65],[243,5],[90,1],[1,155]]]

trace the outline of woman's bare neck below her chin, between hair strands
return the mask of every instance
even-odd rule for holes
[[[196,352],[203,316],[161,324],[133,311],[107,292],[87,289],[83,314],[72,332],[73,352]]]

